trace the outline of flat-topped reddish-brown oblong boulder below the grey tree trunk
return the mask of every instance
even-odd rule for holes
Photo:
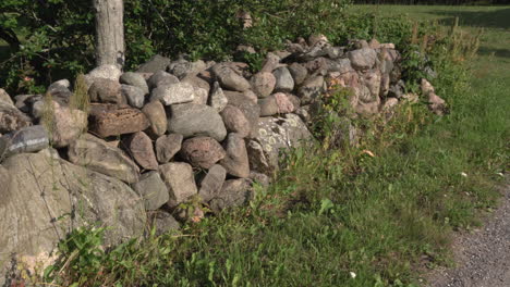
[[[104,138],[133,134],[150,125],[147,116],[139,110],[111,104],[93,104],[89,120],[89,130]]]

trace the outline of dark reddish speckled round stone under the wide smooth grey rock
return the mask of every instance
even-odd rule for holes
[[[186,162],[201,169],[210,169],[226,155],[221,145],[210,137],[194,137],[184,140],[180,154]]]

